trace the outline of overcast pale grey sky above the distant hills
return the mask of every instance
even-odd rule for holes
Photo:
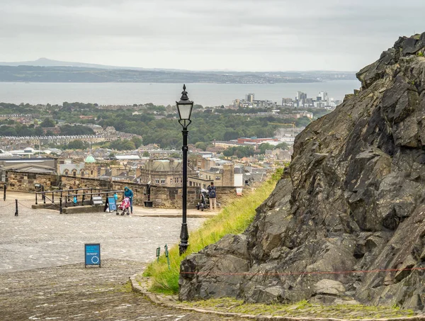
[[[425,31],[424,0],[0,0],[0,61],[358,71]]]

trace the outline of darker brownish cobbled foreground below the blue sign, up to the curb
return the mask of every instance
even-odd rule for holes
[[[0,274],[0,320],[240,320],[172,310],[130,291],[135,261],[109,259],[102,267],[71,264]]]

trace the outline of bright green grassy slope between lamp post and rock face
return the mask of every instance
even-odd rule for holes
[[[255,216],[256,208],[270,196],[276,186],[282,170],[276,171],[272,178],[244,196],[235,198],[225,206],[214,218],[210,218],[200,229],[189,234],[189,247],[185,254],[179,255],[179,246],[169,249],[169,269],[164,254],[159,262],[154,261],[145,270],[143,276],[150,276],[150,291],[176,294],[179,292],[180,262],[189,254],[199,252],[209,244],[215,243],[227,234],[239,234],[246,230]]]

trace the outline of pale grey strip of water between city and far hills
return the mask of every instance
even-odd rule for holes
[[[234,99],[255,93],[256,98],[281,101],[284,97],[295,97],[302,91],[315,97],[319,91],[342,99],[360,88],[358,80],[336,80],[313,83],[286,84],[210,84],[186,82],[188,96],[203,106],[228,106]],[[181,83],[123,83],[107,82],[0,82],[0,97],[5,103],[62,104],[64,101],[98,103],[99,105],[128,105],[133,103],[154,103],[174,105],[181,96]]]

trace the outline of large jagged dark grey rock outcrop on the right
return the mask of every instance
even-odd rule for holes
[[[181,274],[181,299],[424,310],[424,271],[410,270],[425,267],[424,52],[425,33],[399,38],[358,72],[361,90],[297,136],[249,229],[182,262],[199,274]],[[317,273],[382,269],[408,270]]]

